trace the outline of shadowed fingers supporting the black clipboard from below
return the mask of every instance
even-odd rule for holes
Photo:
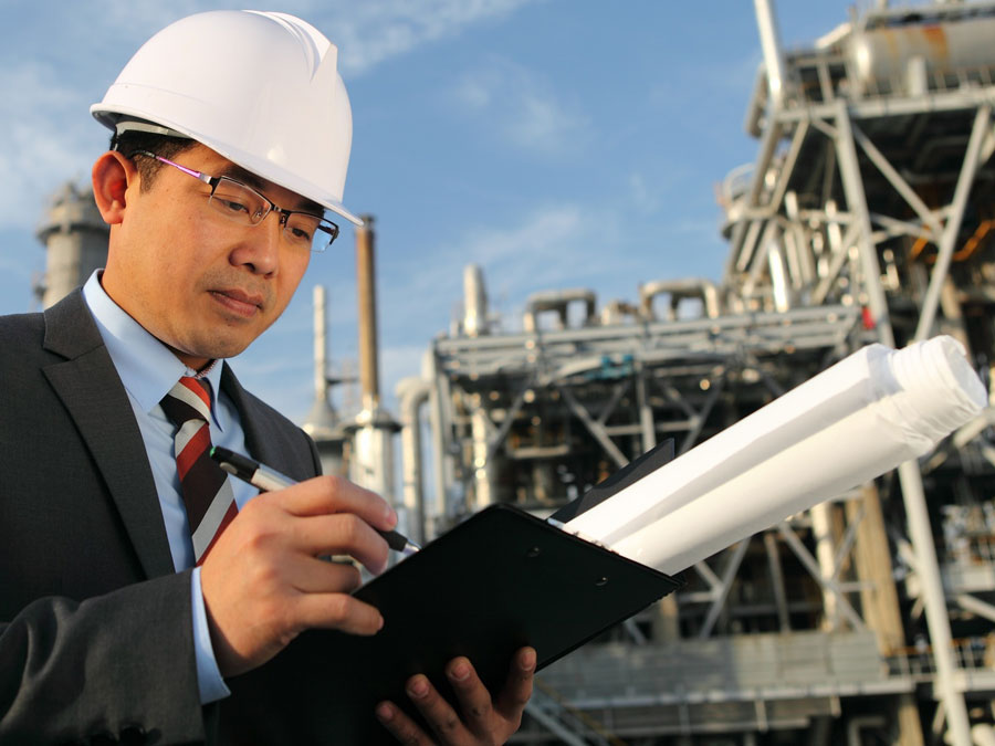
[[[418,674],[408,680],[407,692],[432,729],[426,734],[410,717],[390,702],[377,705],[377,717],[404,744],[410,746],[496,746],[503,744],[522,724],[522,712],[532,696],[535,651],[522,648],[512,659],[504,689],[494,698],[476,676],[465,658],[455,658],[446,666],[446,676],[459,700],[460,711]]]

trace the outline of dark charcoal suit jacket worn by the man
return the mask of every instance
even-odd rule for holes
[[[174,570],[138,425],[80,291],[0,317],[0,743],[214,740],[190,572]],[[298,480],[320,471],[307,435],[227,366],[221,387],[255,458]]]

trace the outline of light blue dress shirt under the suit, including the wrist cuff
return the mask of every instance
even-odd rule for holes
[[[135,419],[138,421],[153,477],[156,481],[172,564],[179,572],[193,566],[193,544],[190,540],[187,511],[184,507],[179,474],[176,470],[174,425],[166,419],[159,401],[181,376],[192,376],[196,371],[184,365],[161,342],[146,332],[111,300],[101,286],[100,271],[94,272],[86,281],[83,297],[93,313],[107,353],[135,411]],[[245,453],[245,433],[242,431],[239,412],[220,389],[221,366],[214,366],[206,379],[211,386],[211,443],[223,445],[237,453]],[[259,494],[259,491],[250,484],[231,477],[229,480],[239,509]],[[200,702],[208,704],[228,696],[230,691],[214,660],[200,589],[199,567],[195,568],[192,574],[191,593],[197,681],[200,687]]]

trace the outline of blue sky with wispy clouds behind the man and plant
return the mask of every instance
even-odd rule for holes
[[[88,179],[106,134],[88,114],[170,21],[241,3],[6,0],[0,30],[0,313],[35,309],[46,198]],[[715,186],[754,160],[743,119],[760,42],[748,0],[296,0],[272,7],[339,45],[353,103],[345,203],[377,219],[383,388],[417,375],[482,265],[516,328],[533,292],[720,280]],[[848,18],[839,0],[776,7],[786,46]],[[17,20],[14,20],[17,19]],[[205,66],[211,60],[206,55]],[[234,363],[300,421],[312,399],[311,288],[329,291],[335,368],[356,357],[354,235],[314,258],[297,297]],[[390,400],[388,399],[388,404]]]

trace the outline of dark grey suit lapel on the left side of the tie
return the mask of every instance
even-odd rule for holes
[[[80,291],[45,312],[44,368],[107,484],[148,577],[175,570],[148,454],[111,356]]]

